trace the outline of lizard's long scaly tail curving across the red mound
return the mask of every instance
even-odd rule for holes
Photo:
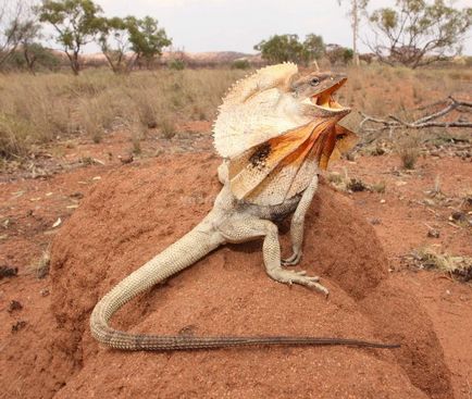
[[[189,350],[214,349],[237,346],[290,345],[290,346],[357,346],[370,348],[398,348],[396,344],[369,342],[358,339],[322,337],[195,337],[156,336],[121,332],[109,326],[113,314],[126,302],[153,285],[190,266],[222,241],[194,228],[178,241],[133,272],[108,292],[95,307],[90,316],[92,336],[100,342],[123,350]]]

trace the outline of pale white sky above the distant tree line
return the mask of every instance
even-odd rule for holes
[[[322,35],[326,43],[352,47],[350,23],[337,0],[96,0],[107,16],[151,15],[159,20],[175,48],[190,52],[240,51],[275,34]],[[370,9],[394,5],[395,0],[371,0]],[[455,0],[458,8],[470,0]],[[361,37],[369,35],[361,27]],[[464,53],[472,53],[469,35]],[[360,51],[368,51],[359,43]],[[88,51],[97,51],[89,48]]]

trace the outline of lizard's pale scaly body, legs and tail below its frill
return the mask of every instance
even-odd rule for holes
[[[305,215],[316,184],[318,176],[314,176],[312,185],[301,196],[282,205],[254,207],[236,200],[226,183],[216,197],[212,211],[191,232],[124,278],[97,303],[90,319],[94,337],[107,346],[124,350],[211,349],[251,345],[350,345],[396,348],[396,345],[343,338],[152,336],[128,334],[108,325],[112,315],[138,294],[192,265],[226,242],[263,239],[265,271],[273,279],[286,284],[301,284],[327,295],[327,289],[318,283],[319,277],[282,267],[282,263],[296,264],[300,260]],[[277,226],[272,220],[280,220],[294,210],[290,229],[294,254],[284,262],[281,260]]]

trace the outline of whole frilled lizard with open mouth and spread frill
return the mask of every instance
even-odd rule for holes
[[[262,239],[269,276],[328,294],[319,277],[284,266],[300,261],[303,221],[316,191],[319,167],[326,167],[330,158],[349,148],[356,136],[337,125],[350,112],[333,98],[345,82],[346,76],[340,74],[302,76],[295,64],[284,63],[259,70],[229,89],[214,124],[214,145],[225,161],[219,169],[223,188],[213,209],[194,229],[124,278],[97,303],[90,317],[96,339],[126,350],[248,345],[396,347],[343,338],[140,335],[108,324],[132,298],[226,242]],[[293,254],[282,260],[274,221],[289,214]]]

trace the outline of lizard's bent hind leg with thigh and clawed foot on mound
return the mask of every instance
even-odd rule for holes
[[[282,267],[278,228],[271,221],[237,215],[225,220],[219,226],[219,230],[228,242],[245,242],[263,238],[262,253],[265,271],[273,279],[285,284],[312,287],[326,296],[328,295],[328,290],[318,283],[319,277],[307,276],[305,271],[296,272]]]

